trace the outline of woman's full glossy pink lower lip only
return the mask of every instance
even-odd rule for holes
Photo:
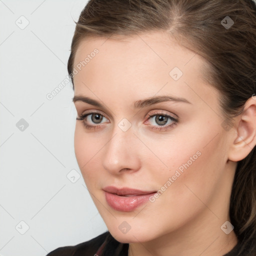
[[[121,196],[117,194],[108,193],[105,191],[105,198],[109,206],[119,211],[132,211],[141,204],[147,202],[149,197],[154,195],[155,192],[150,194],[141,194],[134,196]]]

